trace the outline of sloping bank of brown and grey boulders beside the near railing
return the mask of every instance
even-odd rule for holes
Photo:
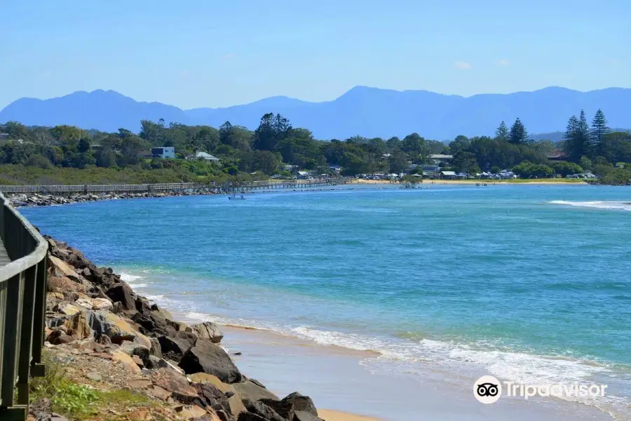
[[[83,373],[90,387],[115,385],[149,396],[169,420],[322,420],[308,396],[294,392],[281,399],[240,373],[215,323],[175,321],[111,268],[96,267],[79,250],[45,238],[45,346],[72,361],[73,372]],[[155,418],[148,416],[140,419]],[[34,402],[32,417],[51,415],[45,403]]]

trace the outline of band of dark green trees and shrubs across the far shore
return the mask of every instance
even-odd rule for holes
[[[294,128],[280,114],[264,114],[255,131],[226,121],[219,128],[185,126],[163,120],[140,121],[140,132],[83,131],[74,126],[0,125],[0,184],[104,184],[145,182],[223,182],[291,177],[298,169],[312,174],[407,173],[410,164],[431,164],[432,154],[451,154],[443,170],[475,174],[513,169],[523,178],[566,177],[593,171],[607,180],[625,180],[631,162],[631,134],[611,132],[602,111],[588,124],[585,113],[572,116],[562,142],[534,142],[524,123],[501,122],[494,137],[457,136],[449,145],[418,133],[405,138],[316,140],[306,128]],[[176,159],[151,159],[151,147],[175,147]],[[553,162],[564,152],[567,161]],[[186,159],[208,152],[219,163]],[[149,156],[149,157],[148,157]],[[618,167],[623,167],[618,165]],[[290,171],[288,171],[291,168]],[[412,173],[422,174],[420,168]]]

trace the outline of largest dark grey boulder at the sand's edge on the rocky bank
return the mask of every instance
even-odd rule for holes
[[[243,378],[230,356],[209,339],[198,339],[182,356],[179,366],[186,374],[208,373],[224,383],[240,382]]]

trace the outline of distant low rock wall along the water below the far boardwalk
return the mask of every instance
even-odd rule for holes
[[[195,189],[185,192],[142,192],[142,193],[100,193],[100,194],[72,194],[70,196],[57,196],[55,194],[21,193],[5,194],[9,202],[15,208],[25,208],[33,206],[54,206],[68,205],[70,203],[93,202],[100,200],[116,199],[147,199],[151,197],[170,196],[201,196],[209,194],[220,194],[219,189]]]

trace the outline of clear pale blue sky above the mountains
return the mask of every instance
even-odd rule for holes
[[[0,109],[95,89],[189,109],[631,88],[630,0],[0,0],[0,17]]]

